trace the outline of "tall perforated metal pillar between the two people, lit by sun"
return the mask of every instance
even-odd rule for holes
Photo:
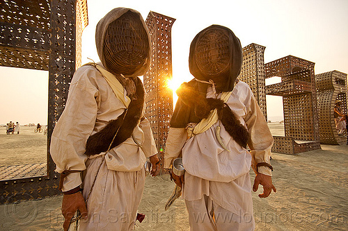
[[[173,91],[167,85],[168,80],[172,78],[171,27],[174,22],[175,19],[152,11],[146,19],[152,40],[152,60],[150,69],[143,77],[147,92],[145,117],[151,124],[161,158],[161,170],[169,123],[173,114]]]

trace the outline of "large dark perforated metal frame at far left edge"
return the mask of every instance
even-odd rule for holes
[[[0,181],[1,204],[60,192],[49,143],[72,75],[81,65],[81,33],[87,24],[86,0],[1,1],[0,65],[49,71],[47,174],[28,172],[26,178]]]

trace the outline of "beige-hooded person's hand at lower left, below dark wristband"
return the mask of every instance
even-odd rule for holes
[[[87,219],[86,203],[81,192],[78,191],[77,193],[68,195],[64,194],[62,202],[62,214],[65,219],[63,224],[64,231],[68,231],[72,216],[74,216],[77,209],[81,212],[81,219]]]

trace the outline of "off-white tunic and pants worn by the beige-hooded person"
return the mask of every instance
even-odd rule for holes
[[[149,121],[143,119],[134,128],[133,137],[142,147],[129,137],[107,153],[84,155],[88,137],[102,130],[111,119],[117,119],[124,110],[125,105],[95,67],[83,66],[75,72],[65,110],[52,133],[50,153],[58,173],[87,169],[84,179],[80,173],[70,173],[63,182],[63,191],[69,191],[84,181],[85,200],[91,191],[86,203],[88,221],[81,221],[81,230],[134,227],[145,183],[143,166],[147,157],[157,153]],[[105,160],[100,166],[103,155]]]

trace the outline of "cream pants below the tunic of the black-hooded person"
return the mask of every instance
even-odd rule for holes
[[[209,196],[185,200],[191,231],[254,230],[253,214],[234,214],[217,205]]]

